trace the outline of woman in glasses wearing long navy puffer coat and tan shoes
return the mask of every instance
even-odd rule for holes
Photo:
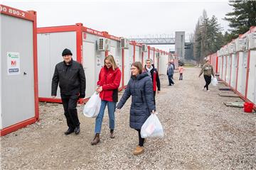
[[[127,84],[124,95],[117,104],[117,109],[121,109],[127,99],[132,96],[129,126],[137,130],[139,135],[139,145],[133,152],[134,155],[138,155],[144,152],[144,138],[140,134],[142,125],[149,118],[149,115],[156,111],[156,106],[154,105],[153,84],[149,74],[147,72],[142,73],[142,63],[134,62],[131,70],[132,77]]]

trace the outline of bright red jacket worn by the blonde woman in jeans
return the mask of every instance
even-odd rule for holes
[[[119,68],[113,70],[102,67],[99,74],[98,86],[102,86],[100,98],[104,101],[118,101],[118,88],[121,81],[121,71]]]

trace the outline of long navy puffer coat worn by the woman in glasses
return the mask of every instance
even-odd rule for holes
[[[137,77],[132,76],[129,80],[117,108],[122,108],[129,96],[132,95],[129,121],[131,128],[140,130],[143,123],[149,118],[151,111],[156,111],[152,86],[152,81],[146,72],[139,74]]]

